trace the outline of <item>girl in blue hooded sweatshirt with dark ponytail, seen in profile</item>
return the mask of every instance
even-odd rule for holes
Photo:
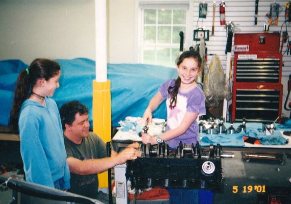
[[[56,189],[70,188],[70,173],[59,110],[53,96],[60,86],[60,65],[36,59],[16,82],[9,126],[19,133],[26,180]]]

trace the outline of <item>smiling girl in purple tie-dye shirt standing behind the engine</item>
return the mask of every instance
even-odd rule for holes
[[[177,62],[178,78],[162,84],[158,93],[151,99],[143,119],[152,122],[153,111],[166,99],[167,127],[161,135],[142,134],[143,143],[157,144],[166,141],[169,147],[177,148],[180,141],[196,144],[199,141],[197,118],[205,115],[205,95],[195,82],[202,71],[200,54],[185,51]],[[168,189],[170,203],[212,203],[211,191],[192,189]]]

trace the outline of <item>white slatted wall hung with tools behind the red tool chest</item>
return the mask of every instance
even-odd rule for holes
[[[224,69],[226,69],[226,28],[225,25],[220,25],[220,13],[219,6],[221,2],[216,2],[215,7],[215,28],[214,36],[211,36],[211,27],[212,27],[212,16],[213,16],[213,1],[205,1],[205,4],[208,6],[208,12],[206,18],[199,19],[199,4],[202,2],[195,1],[193,3],[194,13],[193,13],[193,30],[198,27],[204,27],[205,30],[209,30],[209,41],[206,41],[207,54],[216,54],[220,57]],[[268,18],[266,14],[270,12],[270,4],[273,1],[259,0],[258,6],[258,22],[257,25],[254,25],[254,15],[255,15],[255,1],[240,1],[240,0],[230,0],[225,1],[226,4],[226,22],[232,21],[235,25],[235,33],[262,33],[263,25]],[[291,36],[291,24],[290,22],[284,23],[285,21],[285,3],[286,1],[276,1],[280,5],[280,14],[278,25],[270,25],[269,33],[287,31]],[[282,28],[281,28],[282,27]],[[282,36],[282,34],[281,34]],[[291,41],[291,39],[289,39]],[[199,43],[199,42],[198,42]],[[233,42],[234,43],[234,40]],[[193,45],[196,45],[196,41],[193,42]],[[281,47],[281,44],[280,44]],[[287,48],[287,43],[283,45],[283,52],[285,53]],[[233,55],[233,45],[232,45],[232,57]],[[208,57],[207,64],[209,65],[211,56]],[[286,100],[287,95],[287,81],[289,78],[291,70],[291,55],[285,53],[283,55],[284,66],[282,68],[282,85],[283,88],[283,104],[282,112],[283,115],[289,117],[290,111],[284,110],[283,105]]]

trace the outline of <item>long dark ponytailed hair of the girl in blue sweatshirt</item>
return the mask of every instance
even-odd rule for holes
[[[58,62],[48,59],[35,59],[27,69],[20,71],[14,91],[14,99],[10,112],[9,128],[13,133],[18,133],[18,117],[23,101],[25,101],[37,80],[44,78],[46,81],[57,75],[61,67]]]

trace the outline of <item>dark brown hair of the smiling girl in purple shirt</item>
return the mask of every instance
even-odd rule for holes
[[[202,59],[201,59],[200,54],[198,52],[196,52],[194,50],[188,50],[188,51],[183,52],[177,61],[177,66],[179,66],[185,58],[195,59],[198,63],[199,72],[202,70]],[[181,79],[178,76],[178,78],[175,81],[175,85],[168,87],[168,94],[171,95],[170,105],[169,105],[170,109],[174,109],[176,107],[177,94],[178,94],[180,85],[181,85]]]

